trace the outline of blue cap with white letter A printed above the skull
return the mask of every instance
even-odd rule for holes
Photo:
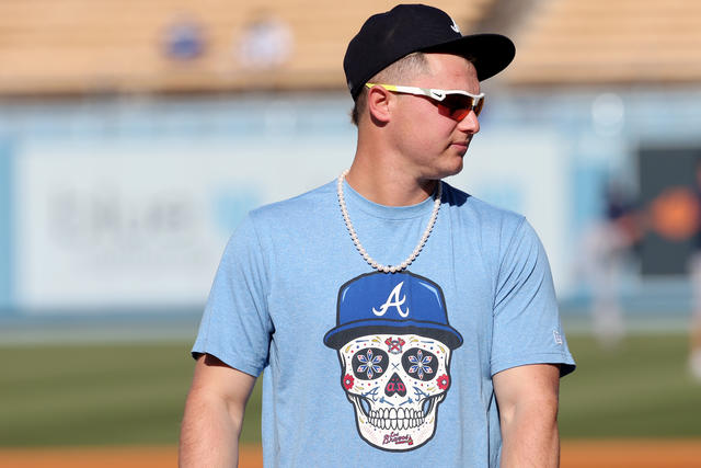
[[[338,350],[372,333],[418,334],[451,350],[462,344],[460,333],[448,323],[440,286],[410,272],[368,273],[341,286],[336,327],[326,332],[324,344]]]

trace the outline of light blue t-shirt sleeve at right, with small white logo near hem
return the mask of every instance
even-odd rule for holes
[[[561,376],[574,370],[548,258],[526,219],[502,256],[493,312],[492,375],[527,364],[560,364]]]

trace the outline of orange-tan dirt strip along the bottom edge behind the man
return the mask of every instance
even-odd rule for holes
[[[0,467],[12,468],[165,468],[177,466],[176,447],[7,448]],[[258,446],[244,446],[242,468],[263,467]],[[701,440],[567,441],[562,468],[701,468]]]

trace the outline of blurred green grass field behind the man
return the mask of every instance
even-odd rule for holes
[[[687,336],[633,335],[611,351],[571,335],[563,438],[699,437],[701,385]],[[0,446],[175,444],[194,362],[189,342],[0,346]],[[260,440],[260,388],[243,442]]]

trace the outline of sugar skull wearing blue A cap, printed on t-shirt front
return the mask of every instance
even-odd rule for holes
[[[418,448],[436,432],[450,388],[450,354],[462,336],[448,323],[440,287],[413,273],[370,273],[338,292],[341,386],[358,434],[384,450]]]

